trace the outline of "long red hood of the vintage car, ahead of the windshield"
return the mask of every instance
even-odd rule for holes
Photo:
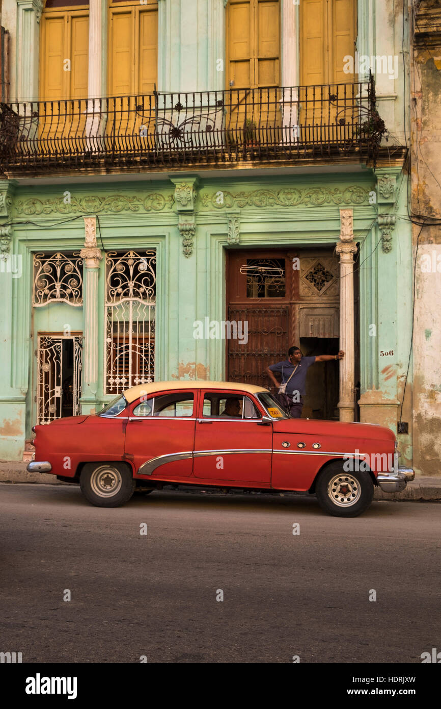
[[[321,419],[284,418],[274,421],[274,432],[303,433],[332,436],[335,438],[364,438],[374,440],[395,440],[390,428],[372,423],[345,423],[344,421],[323,421]]]

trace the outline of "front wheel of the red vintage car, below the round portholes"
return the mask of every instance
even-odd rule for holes
[[[331,463],[316,481],[316,496],[322,510],[333,517],[357,517],[374,496],[374,484],[366,471],[348,473],[343,462]]]

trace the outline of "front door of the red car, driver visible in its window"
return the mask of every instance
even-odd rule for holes
[[[231,406],[234,399],[239,408]],[[263,411],[256,399],[240,390],[210,389],[201,392],[199,406],[193,475],[269,487],[273,425],[262,425]]]

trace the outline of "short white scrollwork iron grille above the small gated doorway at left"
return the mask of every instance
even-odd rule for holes
[[[71,254],[34,254],[33,306],[39,308],[59,301],[81,306],[82,264],[79,251]]]

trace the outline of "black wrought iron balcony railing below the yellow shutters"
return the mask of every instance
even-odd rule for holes
[[[0,104],[5,174],[362,155],[384,123],[374,80]]]

